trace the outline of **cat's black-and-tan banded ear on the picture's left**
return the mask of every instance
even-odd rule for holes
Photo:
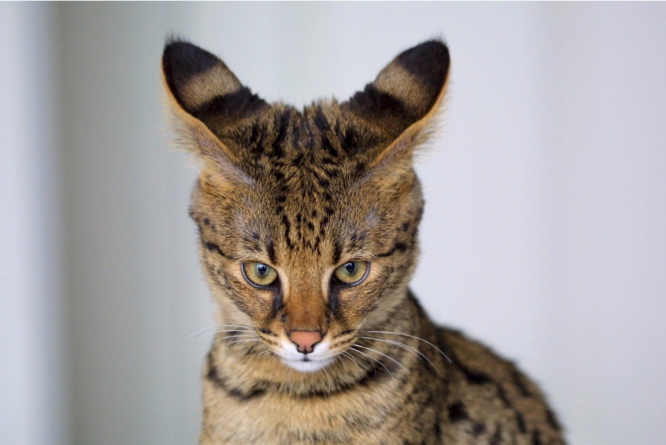
[[[220,138],[239,120],[267,108],[266,101],[241,85],[222,60],[180,40],[164,47],[162,79],[180,142],[218,162],[225,176],[251,181]]]

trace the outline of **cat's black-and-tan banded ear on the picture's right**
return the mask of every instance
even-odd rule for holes
[[[449,50],[440,40],[429,40],[398,55],[342,106],[384,133],[388,146],[372,156],[373,168],[400,155],[411,156],[425,140],[424,128],[436,114],[446,91]]]

